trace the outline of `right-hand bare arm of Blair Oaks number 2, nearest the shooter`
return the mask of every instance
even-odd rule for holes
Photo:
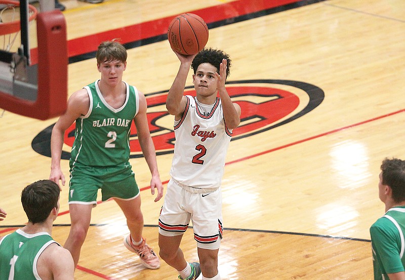
[[[146,117],[146,98],[141,92],[138,93],[139,111],[134,117],[134,122],[138,134],[139,144],[146,163],[148,164],[150,173],[152,174],[152,179],[150,180],[150,191],[152,194],[154,194],[155,188],[157,189],[157,195],[155,198],[155,202],[157,202],[163,196],[163,186],[161,184],[159,171],[157,169],[155,146],[153,145],[152,137],[150,136],[148,119]]]

